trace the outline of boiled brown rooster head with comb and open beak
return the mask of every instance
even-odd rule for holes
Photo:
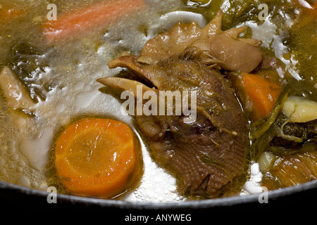
[[[137,84],[143,91],[197,91],[195,122],[186,123],[185,115],[140,115],[137,123],[154,160],[178,179],[180,193],[201,198],[230,193],[247,160],[247,121],[220,69],[251,72],[262,60],[261,41],[238,38],[247,27],[223,32],[221,16],[204,29],[178,23],[147,41],[139,56],[108,63],[128,68],[153,88],[119,77],[98,80],[120,91],[135,92]]]

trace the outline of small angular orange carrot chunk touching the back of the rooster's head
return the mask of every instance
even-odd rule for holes
[[[280,86],[260,75],[242,75],[242,86],[247,100],[251,102],[251,113],[256,120],[271,113],[280,94]]]

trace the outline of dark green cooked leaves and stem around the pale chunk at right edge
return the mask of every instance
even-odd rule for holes
[[[311,101],[316,101],[315,92],[316,90],[307,85],[306,82],[298,82],[294,79],[282,82],[281,93],[272,113],[268,117],[251,123],[252,158],[259,160],[265,151],[286,156],[295,153],[308,153],[317,149],[317,120],[294,122],[284,112],[285,103],[292,99],[289,98],[290,93],[296,96],[305,96],[306,101],[311,103]],[[296,98],[304,99],[303,97]]]

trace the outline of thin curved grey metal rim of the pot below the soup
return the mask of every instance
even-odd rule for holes
[[[314,188],[317,189],[317,179],[306,182],[304,184],[298,184],[296,186],[268,191],[267,198],[268,201],[276,200],[282,197],[287,197],[297,193],[313,190]],[[6,190],[10,190],[14,193],[27,195],[28,197],[37,196],[40,198],[47,198],[47,196],[49,195],[49,193],[46,191],[18,186],[16,184],[10,184],[5,181],[0,181],[0,190],[4,192]],[[82,197],[67,194],[57,194],[56,199],[58,200],[58,202],[70,203],[71,205],[83,204],[87,206],[94,205],[97,207],[114,207],[120,210],[200,210],[211,207],[230,207],[251,203],[259,203],[259,198],[261,198],[260,195],[262,195],[262,193],[255,193],[251,195],[237,195],[210,200],[188,200],[177,203],[131,202],[126,200],[107,200],[102,198]],[[47,203],[47,205],[49,205],[49,203]]]

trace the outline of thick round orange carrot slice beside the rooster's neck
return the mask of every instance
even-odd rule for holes
[[[112,198],[140,173],[135,136],[117,120],[89,118],[70,124],[56,141],[55,166],[70,193]]]

